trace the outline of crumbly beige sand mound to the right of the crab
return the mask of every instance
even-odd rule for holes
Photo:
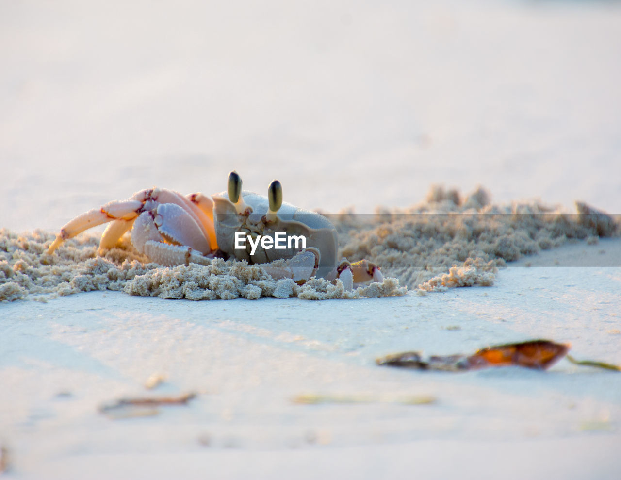
[[[367,258],[409,288],[441,291],[491,285],[507,261],[572,239],[596,242],[621,230],[619,218],[582,202],[576,207],[576,214],[567,214],[540,202],[494,206],[482,188],[461,197],[433,187],[425,202],[408,209],[343,212],[330,219],[348,260]]]

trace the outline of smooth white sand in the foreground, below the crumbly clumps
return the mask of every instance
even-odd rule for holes
[[[592,265],[601,250],[618,259],[621,241],[578,247]],[[4,304],[9,478],[71,478],[87,466],[94,478],[376,478],[406,469],[468,478],[485,465],[505,478],[612,478],[621,467],[620,374],[567,361],[548,372],[420,373],[374,358],[543,337],[571,342],[578,358],[621,363],[620,291],[617,263],[512,266],[492,287],[423,297],[189,302],[91,292]],[[147,391],[153,374],[166,381]],[[97,411],[119,397],[183,392],[198,397],[155,417]],[[292,404],[307,393],[437,401]],[[516,466],[516,456],[531,460]]]

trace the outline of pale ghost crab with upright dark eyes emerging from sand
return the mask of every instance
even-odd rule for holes
[[[227,191],[212,196],[145,189],[70,220],[47,253],[51,255],[66,239],[107,222],[100,254],[131,229],[135,249],[164,266],[208,265],[215,256],[232,256],[259,264],[275,279],[291,278],[298,284],[318,276],[333,283],[340,279],[346,289],[352,289],[354,284],[383,280],[379,267],[370,261],[338,261],[334,225],[324,215],[283,202],[278,180],[270,183],[268,196],[242,191],[242,179],[235,171],[229,174]],[[306,245],[299,248],[298,242],[291,242],[285,248],[270,248],[276,246],[278,232],[304,237]],[[268,241],[259,242],[260,237]],[[247,240],[245,246],[240,238]]]

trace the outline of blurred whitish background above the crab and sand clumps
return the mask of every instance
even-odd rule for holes
[[[337,212],[431,184],[621,212],[621,5],[0,2],[0,227],[153,185]]]

